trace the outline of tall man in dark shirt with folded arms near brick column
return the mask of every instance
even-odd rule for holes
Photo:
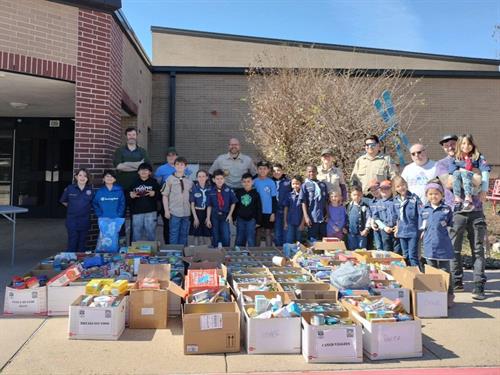
[[[137,179],[137,168],[142,163],[150,163],[148,153],[137,145],[137,129],[125,130],[127,143],[115,151],[113,165],[118,171],[116,179],[123,190],[128,191],[130,185]]]

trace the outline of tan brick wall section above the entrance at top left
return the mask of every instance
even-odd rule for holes
[[[0,1],[0,50],[76,65],[78,8],[45,0]]]

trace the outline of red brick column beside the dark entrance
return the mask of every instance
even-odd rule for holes
[[[74,168],[95,181],[112,166],[121,141],[122,34],[110,14],[80,9],[76,74]],[[95,241],[97,230],[91,231]]]

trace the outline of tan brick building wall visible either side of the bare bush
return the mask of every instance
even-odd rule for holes
[[[168,139],[167,75],[153,76],[153,121],[151,154],[162,160],[160,150]],[[245,142],[244,127],[248,107],[241,98],[247,95],[242,75],[177,74],[176,145],[190,162],[210,164],[225,152],[227,140],[239,137],[244,153],[257,157],[255,148]],[[412,142],[422,141],[431,158],[443,157],[437,143],[447,133],[474,134],[494,176],[500,166],[498,119],[500,118],[500,81],[495,79],[422,79],[415,90],[422,93],[415,126],[409,131]],[[216,113],[213,111],[217,111]],[[360,150],[361,152],[361,150]],[[408,157],[408,159],[410,159]]]

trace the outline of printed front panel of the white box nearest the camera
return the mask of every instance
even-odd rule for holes
[[[316,354],[318,357],[328,357],[335,352],[335,356],[356,356],[355,329],[331,329],[316,332]]]

